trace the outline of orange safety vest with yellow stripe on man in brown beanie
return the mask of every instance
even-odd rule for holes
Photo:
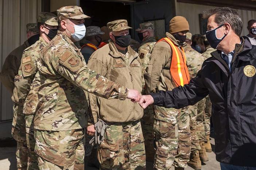
[[[186,65],[186,56],[183,48],[179,50],[178,46],[175,45],[169,38],[163,38],[159,41],[166,41],[172,50],[170,73],[177,86],[184,86],[189,84],[189,70]]]

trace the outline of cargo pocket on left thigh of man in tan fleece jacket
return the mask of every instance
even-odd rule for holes
[[[124,151],[119,148],[119,143],[109,144],[104,140],[97,153],[100,165],[105,169],[119,169],[124,164]]]

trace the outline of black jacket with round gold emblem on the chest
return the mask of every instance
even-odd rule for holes
[[[236,44],[231,72],[221,52],[215,51],[189,84],[150,95],[155,105],[178,109],[194,105],[209,94],[217,161],[256,166],[256,75],[244,73],[245,66],[256,67],[256,46],[246,37],[241,40],[242,44]],[[249,71],[255,73],[253,67]]]

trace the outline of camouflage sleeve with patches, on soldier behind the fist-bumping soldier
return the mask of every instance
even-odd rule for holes
[[[39,54],[32,51],[24,51],[22,55],[22,61],[20,64],[18,75],[14,78],[14,90],[12,100],[13,102],[23,105],[30,90],[32,80],[34,79],[35,73],[37,72],[37,66],[35,57]],[[37,57],[36,57],[37,58]]]

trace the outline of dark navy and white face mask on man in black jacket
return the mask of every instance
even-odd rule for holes
[[[221,28],[224,24],[220,25],[219,27],[212,29],[210,31],[206,31],[205,36],[212,48],[216,49],[220,42],[226,37],[226,34],[221,37],[220,39],[217,38],[216,31],[217,29]]]

